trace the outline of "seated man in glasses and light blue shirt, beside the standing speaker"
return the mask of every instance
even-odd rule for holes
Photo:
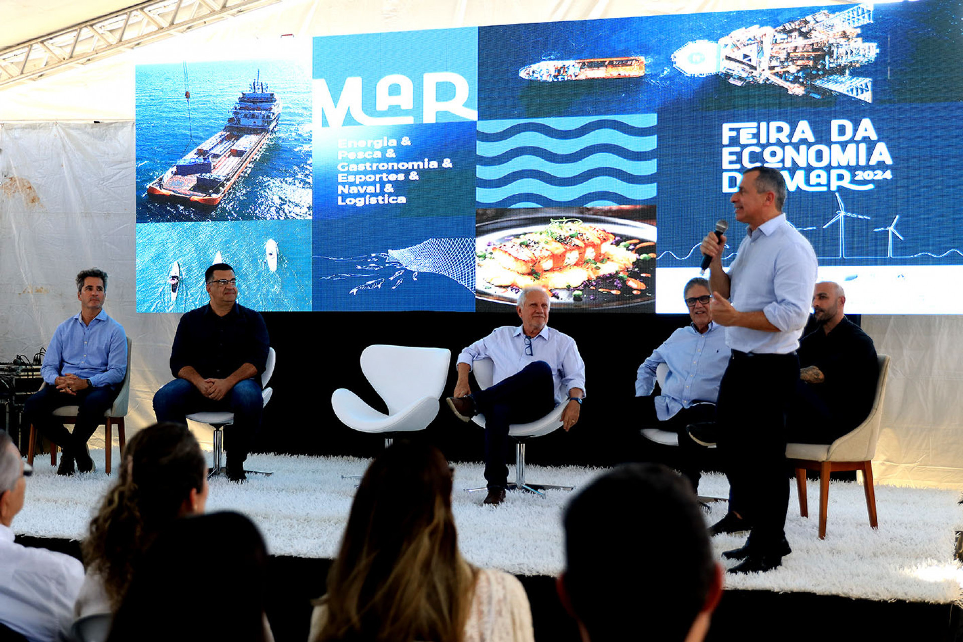
[[[709,309],[709,281],[695,277],[683,292],[692,322],[680,327],[638,367],[636,397],[641,405],[642,427],[675,432],[679,440],[678,467],[698,491],[705,456],[689,438],[686,426],[716,420],[719,381],[729,364],[725,328],[713,322]],[[652,397],[656,369],[668,367],[660,394]]]

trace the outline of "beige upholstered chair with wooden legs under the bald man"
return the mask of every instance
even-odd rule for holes
[[[876,496],[872,488],[872,457],[876,454],[879,423],[883,415],[883,398],[886,396],[886,378],[890,370],[890,357],[885,354],[879,354],[877,357],[879,378],[876,380],[876,397],[872,401],[872,410],[865,422],[829,445],[786,445],[786,457],[795,468],[795,482],[799,490],[799,512],[803,517],[808,517],[809,513],[806,506],[805,471],[820,472],[820,539],[826,536],[829,474],[838,471],[862,471],[870,526],[873,528],[877,526]]]

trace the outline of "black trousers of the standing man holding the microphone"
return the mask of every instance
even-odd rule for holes
[[[786,412],[798,379],[795,353],[733,350],[719,385],[718,448],[726,461],[731,497],[753,524],[748,543],[763,553],[776,550],[785,536],[790,484]]]

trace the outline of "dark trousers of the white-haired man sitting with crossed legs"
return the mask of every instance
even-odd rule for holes
[[[486,485],[488,490],[505,488],[508,424],[528,424],[552,412],[555,408],[552,368],[544,361],[533,361],[490,388],[473,393],[472,397],[484,415]]]

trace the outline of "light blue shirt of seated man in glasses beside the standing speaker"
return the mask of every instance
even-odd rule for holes
[[[680,327],[638,367],[636,397],[652,394],[659,364],[668,366],[662,394],[655,398],[656,417],[665,422],[697,401],[716,402],[719,381],[729,365],[725,328],[710,321],[702,334],[695,324]]]

